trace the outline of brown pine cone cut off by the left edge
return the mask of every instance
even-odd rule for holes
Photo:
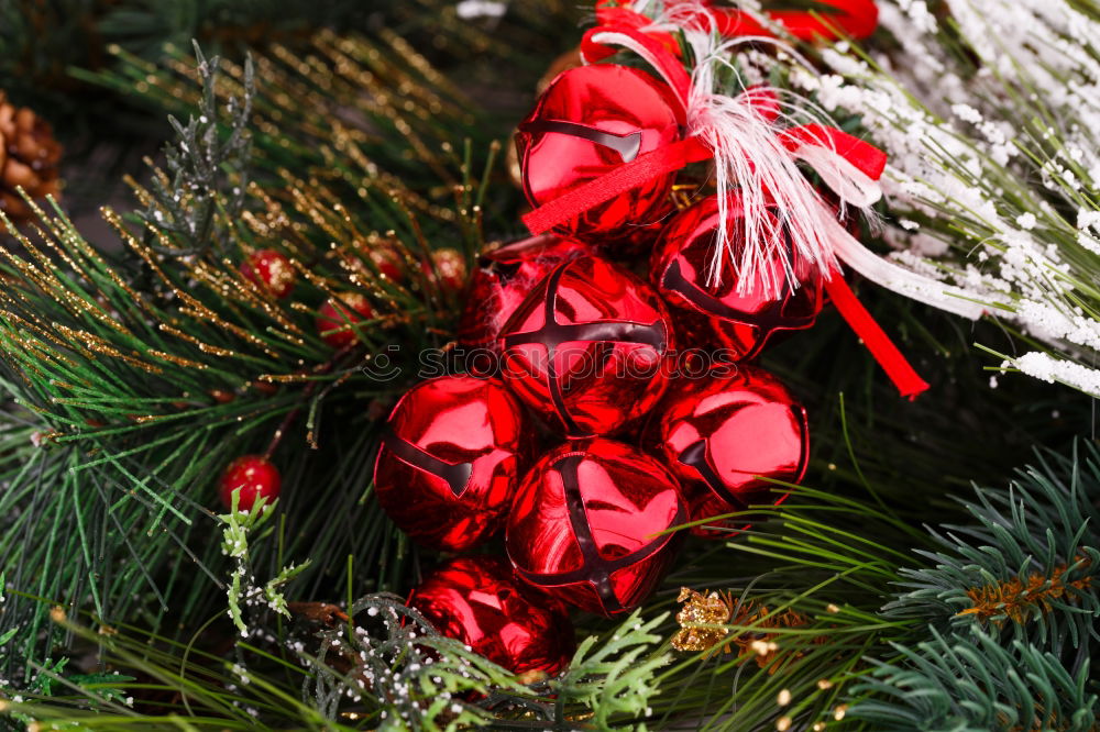
[[[61,156],[62,146],[50,123],[26,107],[16,108],[0,90],[0,211],[16,223],[31,217],[16,186],[31,198],[56,198]]]

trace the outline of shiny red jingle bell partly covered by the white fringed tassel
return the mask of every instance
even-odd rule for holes
[[[739,202],[732,200],[729,210],[730,241],[737,246],[744,242]],[[780,285],[774,297],[762,275],[747,292],[739,293],[728,258],[723,262],[721,284],[708,284],[718,225],[718,199],[710,196],[678,214],[658,244],[651,280],[672,306],[678,329],[693,341],[728,350],[734,359],[748,359],[776,334],[813,325],[821,312],[823,290],[815,267],[795,263],[799,286],[794,287],[778,259],[772,260],[770,271]],[[739,256],[736,249],[734,255]],[[777,288],[770,289],[774,292]]]

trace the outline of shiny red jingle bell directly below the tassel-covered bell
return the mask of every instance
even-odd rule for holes
[[[692,521],[774,500],[774,484],[758,476],[798,483],[810,456],[805,409],[774,376],[746,365],[673,382],[645,442],[680,479]]]

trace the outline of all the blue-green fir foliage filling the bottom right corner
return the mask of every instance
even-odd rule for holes
[[[1100,450],[1042,453],[976,493],[976,523],[934,532],[942,551],[921,553],[935,564],[901,570],[911,589],[883,614],[916,622],[854,687],[868,696],[853,714],[890,730],[1093,730]]]

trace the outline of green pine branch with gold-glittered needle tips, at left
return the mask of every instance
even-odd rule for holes
[[[331,185],[286,173],[265,189],[245,185],[249,95],[220,112],[215,67],[200,75],[198,113],[177,125],[169,171],[154,171],[152,189],[134,185],[141,233],[105,214],[127,252],[105,256],[57,211],[42,212],[33,237],[10,230],[28,258],[0,255],[9,278],[0,292],[0,368],[43,445],[40,459],[6,478],[0,504],[14,523],[0,537],[0,558],[15,590],[70,610],[90,592],[111,621],[140,611],[154,626],[166,613],[186,624],[209,613],[224,562],[204,541],[215,525],[213,481],[231,458],[262,445],[276,445],[284,473],[279,510],[289,521],[279,551],[314,559],[301,575],[311,591],[339,583],[329,574],[340,566],[332,557],[350,553],[380,567],[369,589],[406,576],[405,540],[364,500],[364,456],[385,404],[419,370],[418,354],[453,331],[457,293],[440,287],[426,233],[446,224],[455,244],[481,245],[479,212],[463,203],[476,192],[469,166],[454,177],[465,215],[414,213],[416,196],[369,168],[354,178],[345,169]],[[349,145],[370,166],[369,138]],[[241,274],[249,253],[272,246],[304,279],[290,302]],[[402,281],[381,273],[377,247],[396,254]],[[360,345],[333,353],[314,318],[346,289],[367,292],[376,317],[355,324]],[[400,353],[387,353],[392,343]],[[377,353],[400,376],[364,368]],[[329,424],[352,436],[330,439]],[[47,535],[28,541],[25,531],[46,525]],[[256,562],[283,566],[273,551]],[[30,577],[40,578],[36,587]],[[0,620],[0,632],[20,628],[10,643],[22,652],[6,654],[9,674],[21,658],[45,657],[54,640],[47,633],[38,645],[46,607],[25,597]]]

